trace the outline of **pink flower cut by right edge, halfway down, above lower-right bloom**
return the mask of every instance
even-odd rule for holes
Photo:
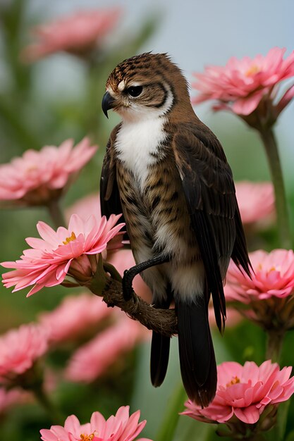
[[[294,252],[286,249],[250,253],[254,273],[251,279],[228,268],[225,294],[228,304],[244,316],[278,332],[294,325]]]

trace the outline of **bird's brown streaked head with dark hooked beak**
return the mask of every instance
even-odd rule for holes
[[[177,105],[189,104],[188,85],[166,54],[141,54],[118,64],[106,82],[102,110],[113,109],[123,120],[166,115]]]

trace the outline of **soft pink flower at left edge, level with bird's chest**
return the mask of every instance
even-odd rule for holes
[[[73,139],[67,139],[60,147],[25,151],[23,156],[0,166],[0,200],[20,205],[47,204],[61,195],[96,150],[97,146],[84,138],[75,147]]]

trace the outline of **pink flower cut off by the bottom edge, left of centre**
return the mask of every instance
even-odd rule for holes
[[[80,424],[75,415],[68,416],[64,427],[51,426],[40,430],[43,441],[133,441],[142,432],[146,420],[139,423],[140,411],[129,416],[129,406],[121,406],[115,416],[105,420],[100,412],[94,412],[90,423]],[[151,441],[140,438],[137,441]]]

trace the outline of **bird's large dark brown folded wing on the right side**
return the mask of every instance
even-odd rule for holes
[[[206,126],[190,125],[189,129],[178,130],[173,137],[173,151],[204,263],[206,292],[212,293],[216,324],[221,330],[226,317],[223,278],[230,258],[249,271],[242,223],[238,224],[233,175],[221,144]],[[236,230],[242,235],[238,256]]]

